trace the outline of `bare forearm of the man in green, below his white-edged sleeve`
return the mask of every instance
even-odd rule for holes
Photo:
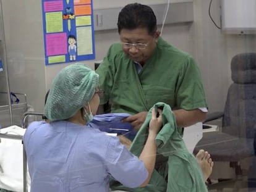
[[[177,127],[189,127],[198,122],[205,120],[207,113],[200,109],[186,111],[184,109],[174,110]]]

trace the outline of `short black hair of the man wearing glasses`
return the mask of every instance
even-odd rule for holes
[[[139,3],[127,4],[122,8],[117,21],[118,33],[122,29],[147,28],[149,35],[156,31],[156,15],[151,7]]]

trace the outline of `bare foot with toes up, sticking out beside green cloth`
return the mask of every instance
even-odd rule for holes
[[[203,179],[206,182],[207,178],[211,175],[211,172],[213,170],[213,161],[211,159],[211,156],[207,151],[200,149],[195,157],[197,158],[197,162],[202,169]]]

